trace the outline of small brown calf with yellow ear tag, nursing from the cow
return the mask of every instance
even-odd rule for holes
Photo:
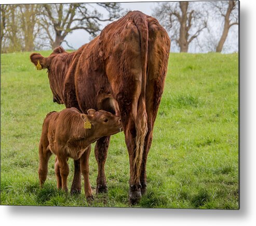
[[[81,114],[76,108],[47,114],[39,143],[39,183],[44,184],[47,176],[48,160],[55,154],[55,173],[57,188],[68,191],[67,178],[69,165],[67,160],[80,159],[80,169],[84,176],[85,196],[92,198],[89,183],[90,144],[106,135],[113,135],[122,129],[119,117],[103,110],[88,110]],[[89,122],[89,126],[88,125]],[[90,128],[91,127],[91,128]]]

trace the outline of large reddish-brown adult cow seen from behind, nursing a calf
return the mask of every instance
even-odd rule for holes
[[[53,101],[75,107],[103,109],[120,115],[130,162],[131,203],[146,191],[146,159],[164,89],[170,39],[155,18],[140,11],[107,25],[77,51],[59,47],[49,57],[33,53],[31,61],[48,69]],[[97,192],[106,191],[104,164],[110,137],[97,141]],[[72,192],[80,190],[75,161]]]

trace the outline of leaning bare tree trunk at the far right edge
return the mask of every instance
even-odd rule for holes
[[[238,25],[238,1],[218,1],[210,4],[216,9],[215,13],[224,19],[222,34],[216,47],[216,52],[221,52],[230,28]]]

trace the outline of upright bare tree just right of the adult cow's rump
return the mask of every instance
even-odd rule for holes
[[[154,9],[154,15],[176,41],[180,52],[207,27],[207,17],[194,2],[166,2]]]

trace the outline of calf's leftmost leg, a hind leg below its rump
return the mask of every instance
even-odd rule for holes
[[[38,168],[38,177],[39,185],[43,186],[45,183],[47,172],[48,172],[48,161],[51,156],[51,151],[48,147],[45,147],[42,142],[39,144],[39,168]]]

